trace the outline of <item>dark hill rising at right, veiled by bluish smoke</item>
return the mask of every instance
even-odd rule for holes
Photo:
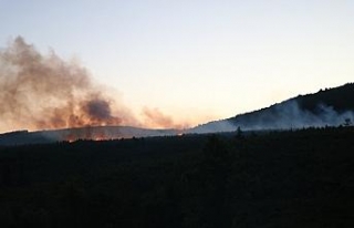
[[[310,126],[350,125],[354,120],[354,83],[317,93],[299,95],[269,107],[215,121],[189,129],[190,133],[242,129],[279,129]]]

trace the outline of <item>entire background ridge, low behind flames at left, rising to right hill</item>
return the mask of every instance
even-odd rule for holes
[[[351,125],[354,121],[354,83],[346,83],[316,93],[298,95],[268,107],[212,121],[185,131],[149,129],[134,126],[83,126],[75,128],[0,134],[0,145],[43,144],[77,139],[119,139],[185,134],[204,134],[260,129],[289,129]]]

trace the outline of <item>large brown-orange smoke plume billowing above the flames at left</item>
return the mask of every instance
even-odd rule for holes
[[[0,50],[0,129],[119,125],[134,120],[125,107],[119,106],[123,116],[113,114],[113,100],[84,68],[54,52],[42,55],[21,37]]]

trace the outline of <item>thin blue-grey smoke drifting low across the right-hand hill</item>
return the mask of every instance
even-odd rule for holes
[[[352,125],[353,121],[353,110],[340,112],[323,103],[316,104],[315,110],[306,110],[301,107],[296,99],[293,99],[260,111],[199,125],[188,132],[233,132],[238,127],[244,131],[324,127]]]

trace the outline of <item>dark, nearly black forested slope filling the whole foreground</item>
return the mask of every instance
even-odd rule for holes
[[[353,227],[354,128],[0,149],[1,227]]]

